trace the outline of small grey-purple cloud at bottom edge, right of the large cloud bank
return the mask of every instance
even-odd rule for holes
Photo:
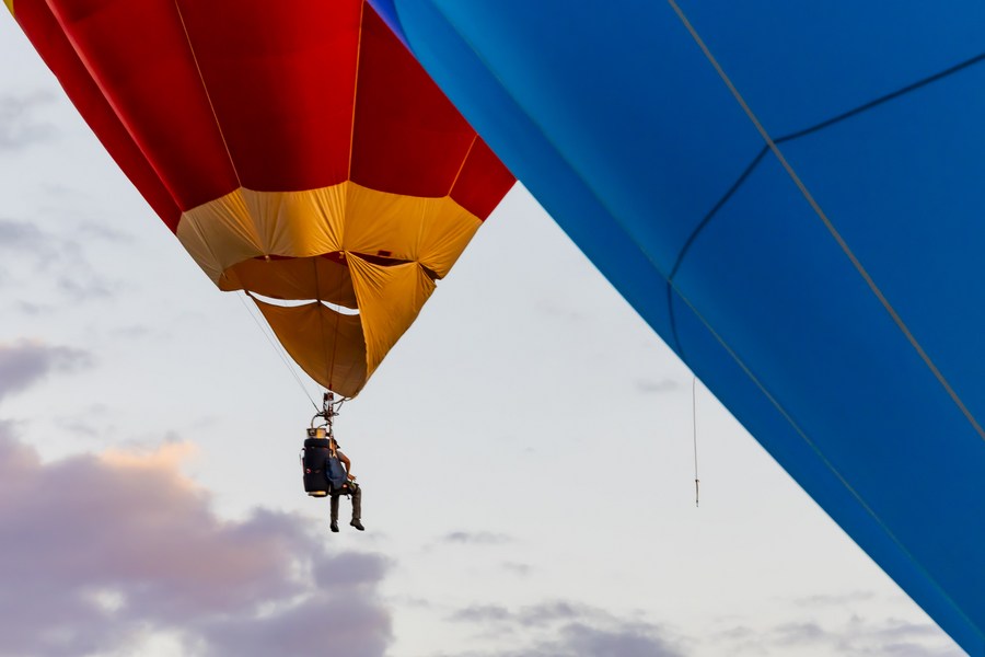
[[[457,657],[681,657],[679,641],[659,625],[619,619],[584,604],[555,601],[511,611],[474,606],[452,615],[478,625],[486,637],[519,637],[520,647],[472,652]]]

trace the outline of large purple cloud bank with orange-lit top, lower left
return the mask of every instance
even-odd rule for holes
[[[218,518],[188,446],[44,463],[0,424],[0,655],[383,655],[389,562],[333,552],[306,519]]]

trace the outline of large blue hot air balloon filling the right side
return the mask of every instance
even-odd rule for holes
[[[985,655],[985,8],[373,4],[763,447]]]

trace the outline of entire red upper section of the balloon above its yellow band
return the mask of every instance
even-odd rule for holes
[[[172,230],[241,183],[452,193],[483,219],[509,188],[484,143],[463,164],[474,131],[363,0],[177,2],[48,0],[63,35],[44,2],[16,7]]]

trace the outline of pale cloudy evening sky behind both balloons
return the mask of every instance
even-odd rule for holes
[[[3,19],[0,656],[963,654],[521,185],[343,406],[329,533],[321,391]]]

